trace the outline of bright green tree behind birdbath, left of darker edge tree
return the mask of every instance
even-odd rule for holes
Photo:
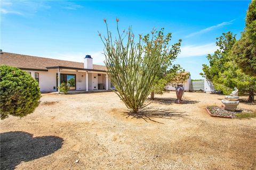
[[[256,78],[245,74],[239,69],[232,54],[232,49],[236,43],[236,35],[230,31],[222,33],[217,38],[216,45],[219,47],[213,55],[208,55],[210,65],[203,64],[203,72],[201,75],[211,80],[216,90],[220,90],[223,94],[230,94],[235,87],[239,89],[240,95],[249,95],[249,101],[254,100],[254,92],[256,91]]]

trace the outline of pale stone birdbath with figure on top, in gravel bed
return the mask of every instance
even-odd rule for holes
[[[239,96],[238,89],[231,92],[229,96],[225,96],[225,99],[221,100],[221,102],[225,105],[225,109],[228,111],[236,111],[236,108],[239,104]]]

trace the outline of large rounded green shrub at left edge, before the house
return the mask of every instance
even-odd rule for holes
[[[41,98],[38,82],[26,71],[0,66],[1,119],[33,113]]]

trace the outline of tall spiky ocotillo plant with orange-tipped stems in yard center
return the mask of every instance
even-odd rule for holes
[[[105,64],[111,83],[116,88],[116,94],[121,98],[127,108],[138,113],[146,105],[154,79],[163,64],[161,56],[170,55],[168,43],[171,33],[164,36],[163,29],[153,29],[150,34],[142,38],[138,36],[135,43],[134,34],[129,27],[120,33],[117,21],[117,36],[113,38],[108,29],[107,36],[99,36],[105,45]]]

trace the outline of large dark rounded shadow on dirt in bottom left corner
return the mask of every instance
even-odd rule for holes
[[[61,148],[63,139],[55,136],[35,137],[15,131],[1,133],[1,169],[14,169],[21,162],[38,159]]]

